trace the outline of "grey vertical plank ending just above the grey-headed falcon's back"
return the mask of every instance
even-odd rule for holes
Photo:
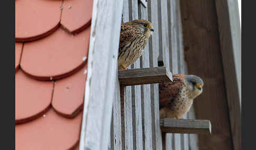
[[[168,12],[167,0],[158,0],[158,16],[159,16],[159,58],[163,61],[163,66],[170,70],[169,61],[169,37],[168,37]]]

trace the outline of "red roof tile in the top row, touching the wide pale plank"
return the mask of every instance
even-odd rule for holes
[[[72,34],[79,33],[91,23],[92,0],[65,0],[63,2],[61,24]]]

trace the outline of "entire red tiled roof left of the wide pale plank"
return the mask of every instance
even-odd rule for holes
[[[15,149],[78,149],[92,6],[15,1]]]

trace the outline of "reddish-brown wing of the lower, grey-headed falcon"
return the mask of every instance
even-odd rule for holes
[[[181,74],[173,75],[173,82],[159,84],[159,109],[171,106],[178,96],[182,84],[184,84],[184,77]]]

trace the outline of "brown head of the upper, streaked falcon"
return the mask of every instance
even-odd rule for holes
[[[149,38],[150,35],[154,32],[152,23],[147,20],[132,20],[131,24],[139,28],[141,33],[144,34],[146,38]]]

